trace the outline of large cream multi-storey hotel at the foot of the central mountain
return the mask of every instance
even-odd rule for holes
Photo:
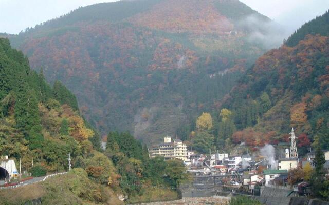
[[[165,159],[181,159],[186,161],[188,158],[187,145],[180,139],[171,140],[170,136],[163,138],[163,143],[156,145],[151,150],[151,157],[162,156]]]

